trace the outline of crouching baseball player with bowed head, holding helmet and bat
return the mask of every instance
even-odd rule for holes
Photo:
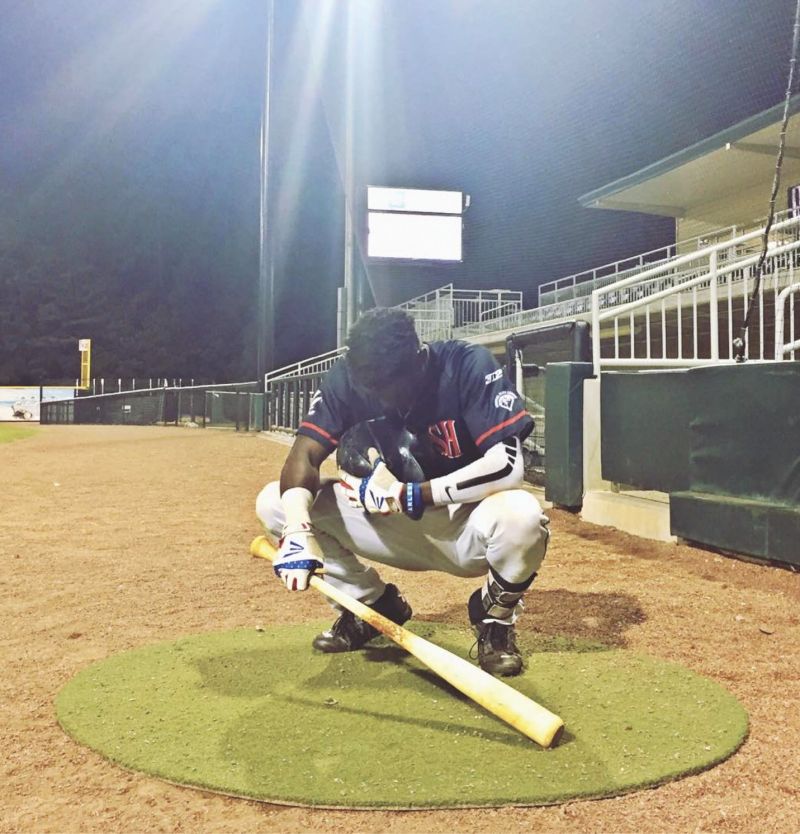
[[[478,662],[519,674],[514,622],[548,539],[547,517],[520,489],[531,416],[488,350],[420,344],[401,310],[366,313],[347,346],[312,399],[280,483],[256,501],[279,542],[275,573],[303,591],[324,562],[328,582],[400,624],[411,607],[361,559],[485,576],[467,602]],[[340,479],[321,481],[337,447]],[[377,634],[342,610],[313,646],[355,651]]]

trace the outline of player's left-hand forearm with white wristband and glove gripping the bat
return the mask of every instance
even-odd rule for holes
[[[328,450],[318,441],[297,435],[281,470],[281,503],[286,523],[275,574],[290,591],[304,591],[322,568],[322,549],[311,526],[311,505],[319,490],[319,469]]]

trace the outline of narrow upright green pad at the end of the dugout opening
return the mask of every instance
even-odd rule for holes
[[[562,507],[583,503],[583,381],[590,362],[550,362],[545,376],[544,495]]]

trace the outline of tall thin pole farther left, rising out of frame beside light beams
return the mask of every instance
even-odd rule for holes
[[[260,209],[258,247],[258,346],[256,368],[258,382],[264,386],[264,375],[275,364],[275,274],[270,227],[270,98],[272,93],[272,44],[275,28],[275,0],[267,4],[267,40],[264,59],[264,97],[261,103]]]

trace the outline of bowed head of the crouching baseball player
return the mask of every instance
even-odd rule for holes
[[[414,319],[396,308],[376,307],[364,313],[347,336],[353,381],[391,408],[414,404],[426,357]]]

